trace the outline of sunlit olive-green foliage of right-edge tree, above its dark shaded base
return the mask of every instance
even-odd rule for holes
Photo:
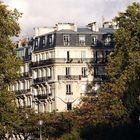
[[[133,3],[115,18],[115,49],[110,56],[107,72],[111,78],[110,92],[123,93],[140,73],[140,4]]]

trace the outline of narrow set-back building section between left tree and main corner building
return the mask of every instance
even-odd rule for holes
[[[31,92],[31,52],[32,43],[28,39],[22,39],[17,42],[17,57],[23,58],[24,64],[20,67],[20,78],[16,84],[13,85],[13,90],[16,92],[17,106],[29,107],[32,106],[32,92]]]

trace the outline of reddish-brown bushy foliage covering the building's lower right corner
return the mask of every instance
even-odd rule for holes
[[[113,94],[100,94],[98,97],[85,97],[81,106],[75,109],[75,124],[84,127],[89,124],[116,124],[127,120],[127,111],[122,101]]]

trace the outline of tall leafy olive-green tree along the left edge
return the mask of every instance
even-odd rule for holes
[[[18,77],[21,62],[16,58],[15,45],[11,37],[17,36],[20,27],[17,22],[21,16],[17,10],[8,10],[0,1],[0,137],[12,134],[16,111],[15,94],[9,90]]]

